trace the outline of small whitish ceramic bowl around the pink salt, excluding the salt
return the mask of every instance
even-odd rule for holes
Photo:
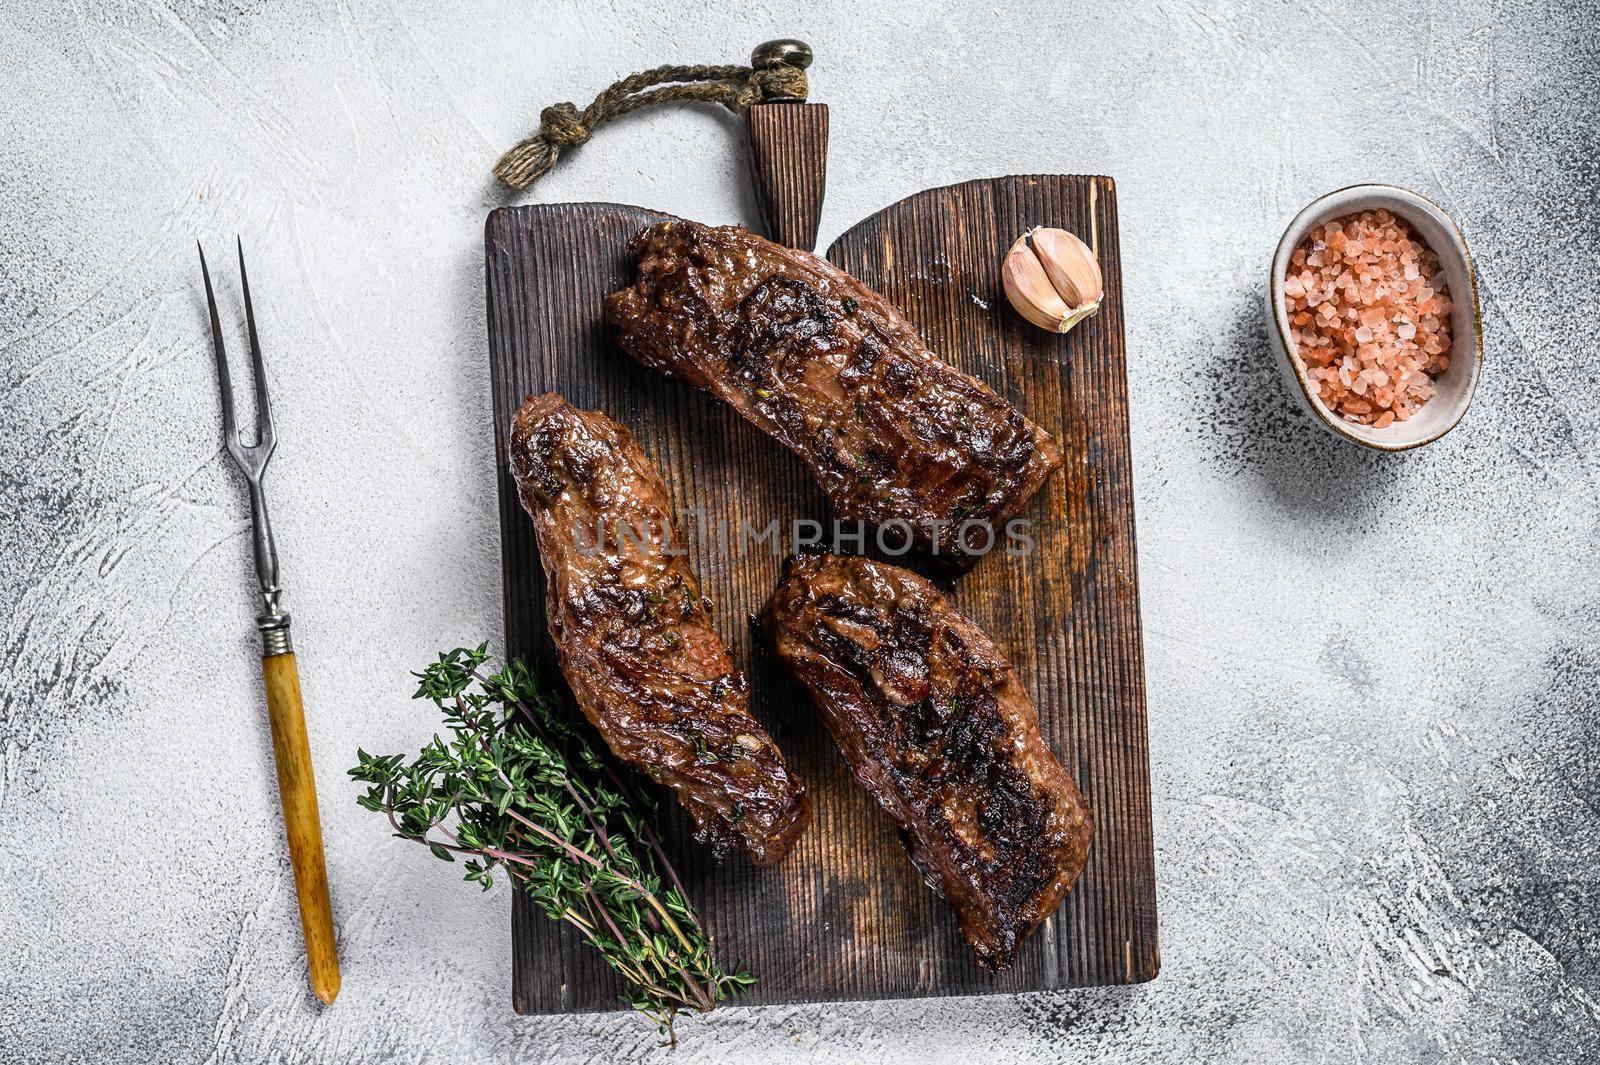
[[[1424,403],[1405,422],[1384,429],[1347,422],[1322,401],[1306,366],[1301,365],[1290,339],[1290,318],[1283,302],[1283,277],[1290,256],[1301,246],[1306,235],[1336,217],[1360,211],[1387,208],[1392,214],[1411,224],[1411,232],[1438,256],[1440,272],[1450,286],[1450,369],[1434,381],[1434,398]],[[1277,336],[1283,357],[1283,373],[1290,392],[1322,422],[1328,432],[1378,451],[1408,451],[1434,443],[1461,421],[1478,387],[1478,371],[1483,368],[1483,328],[1478,315],[1478,281],[1472,272],[1472,254],[1467,240],[1456,222],[1432,200],[1395,185],[1350,185],[1330,192],[1294,216],[1283,230],[1283,240],[1272,256],[1272,280],[1267,288],[1267,320]]]

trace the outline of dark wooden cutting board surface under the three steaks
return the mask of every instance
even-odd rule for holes
[[[613,203],[502,208],[486,225],[490,363],[499,459],[506,641],[555,676],[533,529],[506,467],[510,417],[528,393],[558,390],[629,425],[661,469],[680,515],[736,528],[826,518],[802,464],[722,403],[643,369],[602,320],[632,280],[626,240],[666,217]],[[1067,337],[1005,304],[998,267],[1032,224],[1098,246],[1099,315]],[[1147,980],[1158,967],[1144,665],[1115,193],[1106,178],[1000,178],[917,193],[846,232],[829,257],[883,291],[934,350],[1011,398],[1061,441],[1067,464],[1027,512],[1037,550],[989,558],[954,587],[1034,694],[1040,726],[1098,822],[1077,889],[989,975],[947,907],[906,860],[890,820],[854,784],[821,721],[754,646],[749,614],[781,560],[723,553],[685,518],[696,572],[752,710],[810,784],[816,824],[776,870],[710,862],[669,814],[669,849],[726,961],[760,983],[750,1003],[1032,991]],[[514,902],[518,1012],[618,1006],[619,982],[565,926]]]

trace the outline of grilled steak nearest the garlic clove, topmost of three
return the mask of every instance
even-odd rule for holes
[[[830,262],[738,227],[658,222],[606,317],[638,361],[731,403],[811,467],[846,521],[965,572],[1061,465],[1043,429],[928,350]],[[885,529],[885,532],[888,532]],[[909,537],[907,537],[909,532]],[[973,548],[973,550],[968,550]]]

